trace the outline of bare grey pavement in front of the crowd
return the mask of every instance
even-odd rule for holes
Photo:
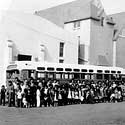
[[[125,125],[125,102],[46,108],[0,106],[0,125]]]

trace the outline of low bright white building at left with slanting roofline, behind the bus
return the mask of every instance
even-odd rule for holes
[[[78,64],[77,37],[44,18],[8,12],[2,20],[1,27],[2,82],[3,78],[5,80],[7,65],[13,61]]]

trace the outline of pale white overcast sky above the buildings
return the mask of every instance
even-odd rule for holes
[[[0,9],[33,13],[73,0],[0,0]],[[125,0],[101,0],[107,14],[125,12]]]

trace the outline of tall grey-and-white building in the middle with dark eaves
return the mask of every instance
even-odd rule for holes
[[[105,14],[99,0],[76,0],[35,14],[76,34],[79,64],[113,65],[115,23]]]

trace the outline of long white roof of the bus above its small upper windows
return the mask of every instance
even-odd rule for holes
[[[15,61],[14,63],[8,65],[7,70],[37,70],[38,67],[45,68],[70,68],[70,69],[86,69],[93,70],[93,73],[96,73],[97,70],[102,71],[121,71],[121,74],[125,73],[125,70],[120,67],[107,67],[107,66],[95,66],[95,65],[80,65],[80,64],[64,64],[64,63],[48,63],[48,62],[33,62],[33,61]]]

